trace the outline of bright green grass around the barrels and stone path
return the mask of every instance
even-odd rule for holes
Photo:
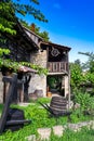
[[[31,119],[31,124],[28,126],[24,126],[24,128],[19,129],[18,131],[11,132],[10,130],[2,133],[0,136],[0,141],[26,141],[25,137],[28,137],[30,134],[36,134],[38,137],[37,129],[42,127],[50,127],[56,125],[55,118],[50,118],[48,112],[40,106],[38,102],[42,103],[49,103],[50,99],[39,99],[36,102],[31,102],[28,106],[18,106],[18,105],[11,105],[12,107],[21,108],[25,112],[26,119]],[[2,110],[2,105],[0,105],[0,111]],[[83,116],[80,117],[80,111],[76,111],[71,115],[71,123],[78,123],[82,120],[90,120],[94,119],[94,117]],[[61,117],[58,118],[59,125],[66,125],[68,121],[67,117]],[[93,141],[94,140],[94,130],[93,129],[86,129],[83,128],[79,132],[73,132],[69,129],[65,130],[65,133],[63,137],[58,138],[51,134],[51,141]]]

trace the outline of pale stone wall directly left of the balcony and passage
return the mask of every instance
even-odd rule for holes
[[[40,65],[44,68],[46,68],[46,51],[44,50],[43,52],[38,51],[33,52],[30,55],[30,62],[32,64]],[[29,93],[33,93],[35,90],[42,90],[43,91],[43,97],[46,97],[46,76],[44,75],[32,75],[30,84],[29,84]]]

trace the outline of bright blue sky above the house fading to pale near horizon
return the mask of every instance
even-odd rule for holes
[[[23,0],[26,2],[26,0]],[[39,0],[37,8],[43,12],[49,23],[42,23],[31,16],[26,16],[29,24],[35,23],[46,30],[54,43],[68,46],[69,61],[86,56],[78,52],[94,52],[94,0]]]

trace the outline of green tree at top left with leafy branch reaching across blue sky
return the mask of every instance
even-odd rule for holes
[[[27,14],[33,16],[35,18],[48,22],[44,15],[37,10],[33,4],[39,4],[38,0],[28,0],[29,4],[22,3],[22,0],[1,0],[0,1],[0,33],[16,34],[14,30],[14,24],[18,14],[26,16]]]

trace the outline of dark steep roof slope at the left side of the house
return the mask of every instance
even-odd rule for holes
[[[16,30],[16,35],[3,34],[10,41],[15,42],[17,46],[22,46],[27,50],[38,50],[38,44],[29,37],[29,35],[25,31],[25,28],[22,24],[16,21],[14,29]]]

